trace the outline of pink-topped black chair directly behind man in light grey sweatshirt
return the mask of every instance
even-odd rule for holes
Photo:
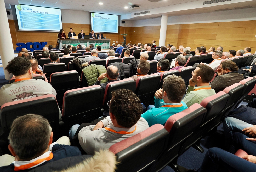
[[[149,171],[167,146],[169,133],[161,124],[112,145],[109,150],[117,157],[116,171]],[[141,161],[143,159],[143,161]]]

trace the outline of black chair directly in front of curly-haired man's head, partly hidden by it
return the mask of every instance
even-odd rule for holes
[[[135,92],[136,82],[132,78],[129,78],[129,79],[113,81],[113,82],[108,83],[106,86],[106,89],[105,89],[105,94],[104,94],[104,99],[103,99],[103,104],[102,104],[104,109],[108,109],[106,102],[111,100],[111,98],[112,98],[111,92],[115,91],[119,88],[125,88],[125,89]]]

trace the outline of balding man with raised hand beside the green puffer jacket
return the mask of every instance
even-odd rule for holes
[[[108,83],[110,82],[114,82],[114,81],[119,81],[120,79],[117,79],[118,76],[118,68],[116,66],[112,66],[110,65],[109,67],[107,67],[107,72],[106,73],[102,73],[97,81],[95,82],[94,85],[100,85],[100,87],[103,89],[103,94],[105,93],[105,89]],[[100,84],[100,81],[104,78],[106,78],[109,80],[103,84]]]

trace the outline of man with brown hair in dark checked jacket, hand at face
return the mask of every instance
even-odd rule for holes
[[[226,87],[242,81],[244,77],[237,71],[238,67],[233,61],[226,60],[222,62],[220,68],[218,68],[218,76],[210,83],[211,88],[218,93],[219,91],[223,91]]]

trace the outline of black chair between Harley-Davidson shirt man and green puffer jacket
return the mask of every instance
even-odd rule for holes
[[[79,75],[75,70],[56,72],[50,76],[50,84],[57,92],[57,102],[62,109],[63,95],[66,91],[79,88]]]

